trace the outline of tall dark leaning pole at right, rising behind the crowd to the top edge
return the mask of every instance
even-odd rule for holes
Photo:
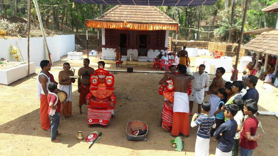
[[[235,71],[234,71],[233,81],[235,81],[235,78],[237,75],[237,63],[238,63],[238,59],[239,59],[240,46],[241,46],[242,38],[243,38],[243,31],[244,31],[244,24],[245,24],[245,20],[246,20],[246,12],[248,9],[248,2],[249,2],[249,0],[246,0],[246,2],[245,2],[245,9],[244,9],[244,14],[243,14],[241,32],[240,32],[239,43],[238,43],[238,47],[237,47],[237,58],[235,60]]]

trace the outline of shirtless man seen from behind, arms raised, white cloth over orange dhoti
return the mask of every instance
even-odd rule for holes
[[[173,106],[173,125],[171,135],[177,137],[180,134],[185,138],[189,136],[189,101],[187,95],[188,83],[194,79],[193,76],[186,74],[186,66],[179,66],[180,75],[170,72],[164,74],[174,80],[174,106]]]

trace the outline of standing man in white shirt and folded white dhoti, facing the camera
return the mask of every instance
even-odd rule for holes
[[[194,84],[192,92],[189,96],[190,115],[192,115],[191,113],[193,109],[193,102],[198,104],[198,114],[201,113],[201,104],[204,101],[206,92],[209,90],[209,75],[204,72],[205,68],[206,66],[204,64],[201,64],[199,66],[199,71],[193,73]]]

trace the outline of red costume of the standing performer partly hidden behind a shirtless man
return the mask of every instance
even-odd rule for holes
[[[179,74],[179,73],[175,73]],[[171,131],[173,126],[173,105],[174,105],[174,84],[173,79],[167,79],[165,82],[168,84],[164,86],[163,84],[159,87],[159,94],[164,95],[164,104],[162,110],[162,124],[161,127],[166,131]],[[192,88],[191,84],[188,84],[187,94],[191,94]]]

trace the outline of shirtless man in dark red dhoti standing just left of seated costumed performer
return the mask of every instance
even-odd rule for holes
[[[95,72],[94,68],[89,67],[90,64],[90,60],[85,58],[83,60],[83,66],[82,68],[80,68],[78,70],[78,81],[77,81],[77,85],[78,85],[78,93],[79,94],[79,115],[81,115],[82,111],[81,111],[81,107],[82,105],[86,105],[85,103],[85,98],[87,96],[87,94],[90,92],[90,75],[93,74]]]

